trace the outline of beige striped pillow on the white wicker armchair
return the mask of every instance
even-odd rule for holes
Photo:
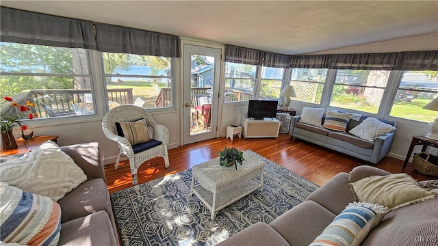
[[[128,139],[131,146],[138,143],[146,143],[146,141],[150,140],[146,120],[144,119],[133,122],[116,122],[116,125],[117,124],[120,125],[123,137]]]

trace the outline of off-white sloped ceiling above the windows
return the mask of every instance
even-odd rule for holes
[[[438,50],[438,1],[1,1],[286,55]]]

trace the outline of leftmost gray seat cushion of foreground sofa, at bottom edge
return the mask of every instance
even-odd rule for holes
[[[268,224],[257,222],[252,226],[237,232],[227,240],[219,243],[218,246],[265,246],[265,245],[279,245],[289,246],[289,243],[272,229]]]

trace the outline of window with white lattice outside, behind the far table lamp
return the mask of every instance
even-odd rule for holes
[[[320,104],[326,76],[327,69],[292,69],[290,85],[294,87],[296,93],[296,98],[292,99]]]

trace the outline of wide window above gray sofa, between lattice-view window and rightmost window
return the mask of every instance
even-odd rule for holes
[[[337,70],[330,106],[378,113],[389,73],[387,70]]]

